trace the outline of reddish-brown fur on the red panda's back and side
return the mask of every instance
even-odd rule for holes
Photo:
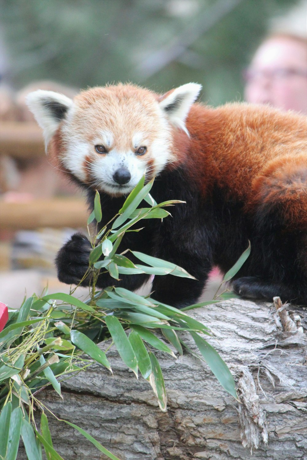
[[[283,203],[288,223],[307,228],[306,117],[247,104],[217,109],[194,104],[186,127],[189,157],[181,150],[179,161],[203,196],[217,184],[247,211]]]

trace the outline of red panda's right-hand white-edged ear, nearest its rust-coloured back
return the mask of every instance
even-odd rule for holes
[[[201,89],[202,86],[198,83],[187,83],[167,92],[158,99],[160,108],[167,115],[169,121],[183,129],[187,134],[185,119]]]

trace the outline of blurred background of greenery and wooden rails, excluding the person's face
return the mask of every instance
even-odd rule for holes
[[[25,103],[37,88],[73,97],[133,82],[156,92],[203,85],[201,101],[244,100],[243,70],[266,35],[306,37],[307,1],[2,0],[0,35],[0,301],[65,291],[54,256],[87,209],[48,162]],[[176,198],[176,197],[174,197]]]

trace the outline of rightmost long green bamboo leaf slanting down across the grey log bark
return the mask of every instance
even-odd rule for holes
[[[207,362],[209,368],[217,380],[219,380],[222,387],[238,400],[236,385],[232,374],[226,363],[220,357],[219,353],[196,332],[190,331],[190,334],[193,337],[198,350],[201,352],[203,359]]]

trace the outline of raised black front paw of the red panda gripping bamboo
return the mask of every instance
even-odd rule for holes
[[[66,284],[79,284],[88,269],[91,243],[81,233],[75,233],[59,250],[56,265],[58,279]],[[90,277],[87,276],[81,286],[88,286]]]

